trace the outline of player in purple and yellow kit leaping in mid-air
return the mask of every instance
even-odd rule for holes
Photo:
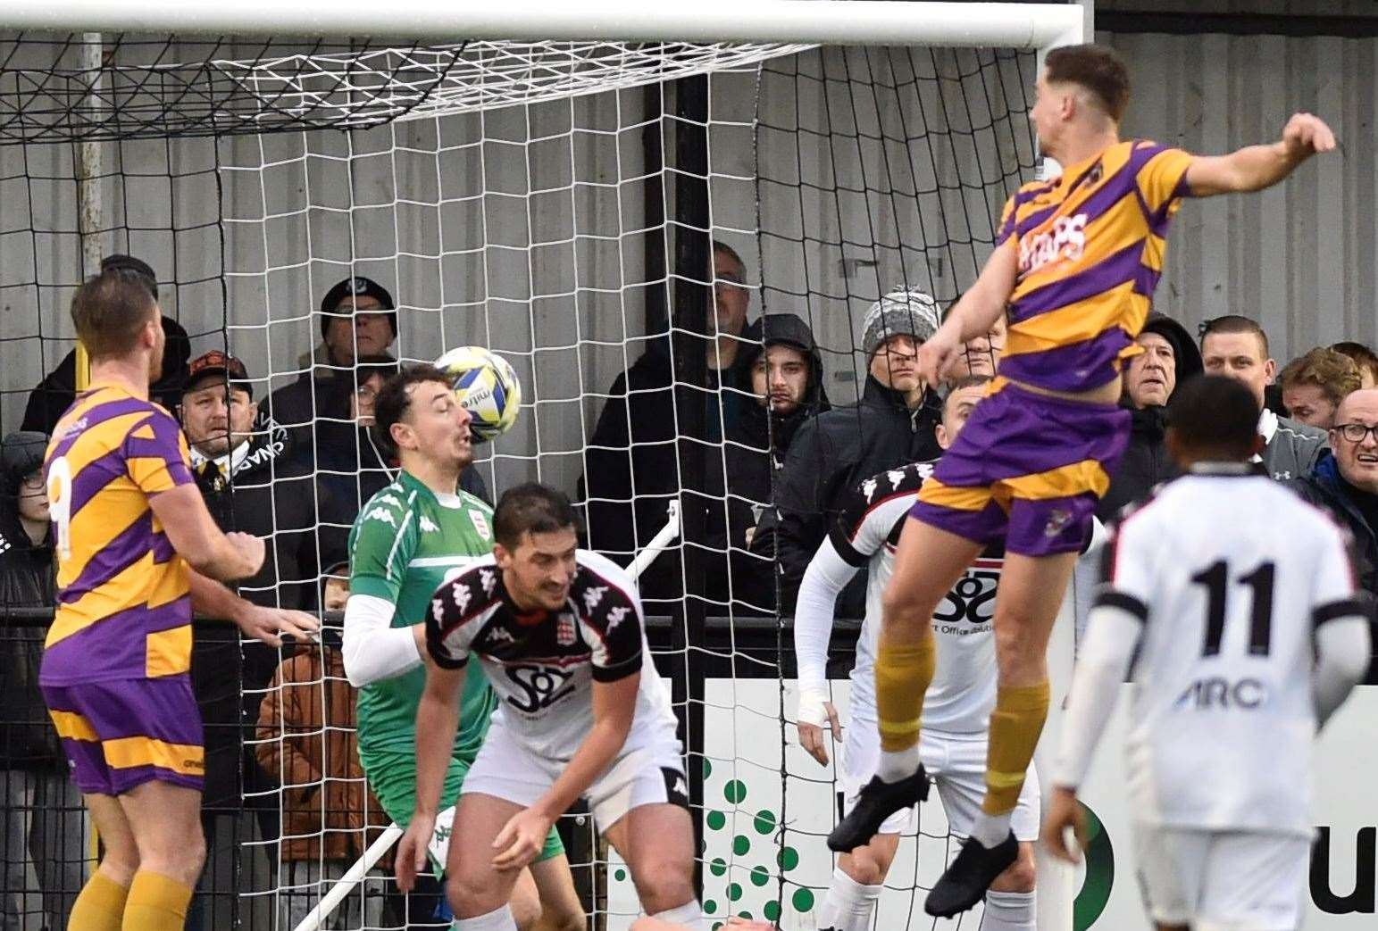
[[[918,800],[933,610],[1003,534],[985,800],[971,837],[929,892],[929,914],[971,908],[1018,857],[1010,815],[1047,718],[1047,639],[1129,441],[1120,368],[1140,351],[1134,339],[1163,270],[1169,222],[1184,197],[1261,190],[1335,147],[1324,123],[1299,113],[1272,145],[1195,157],[1122,142],[1127,105],[1129,73],[1112,50],[1047,54],[1029,117],[1062,174],[1010,198],[980,278],[919,348],[919,370],[937,384],[963,342],[1009,313],[996,387],[925,482],[900,537],[875,662],[881,764],[828,846],[867,843]]]

